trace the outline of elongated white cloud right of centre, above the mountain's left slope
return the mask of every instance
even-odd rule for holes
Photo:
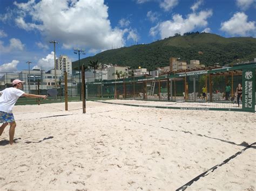
[[[150,29],[150,35],[156,36],[158,33],[161,39],[174,36],[175,33],[183,34],[196,29],[196,27],[207,26],[207,18],[212,16],[212,10],[191,13],[184,19],[181,15],[173,15],[172,20],[161,22]]]

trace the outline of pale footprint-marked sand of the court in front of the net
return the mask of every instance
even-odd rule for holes
[[[252,113],[86,107],[82,114],[81,102],[69,111],[64,103],[15,106],[18,143],[6,144],[6,128],[0,190],[175,190],[256,141]],[[68,116],[42,118],[55,115]],[[186,190],[255,190],[255,148]]]

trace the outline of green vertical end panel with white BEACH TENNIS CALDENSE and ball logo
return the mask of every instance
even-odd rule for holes
[[[255,69],[242,70],[242,109],[255,111]]]

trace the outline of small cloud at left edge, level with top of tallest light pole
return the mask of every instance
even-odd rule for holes
[[[10,44],[8,46],[4,46],[3,41],[0,40],[0,51],[4,53],[8,53],[11,51],[23,51],[25,45],[22,44],[21,40],[16,39],[16,38],[11,38]]]

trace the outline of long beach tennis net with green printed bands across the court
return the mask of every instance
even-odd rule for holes
[[[137,107],[255,112],[255,68],[254,64],[92,82],[86,83],[86,96],[105,103]],[[240,96],[238,84],[242,86]],[[248,103],[250,108],[246,106]]]

